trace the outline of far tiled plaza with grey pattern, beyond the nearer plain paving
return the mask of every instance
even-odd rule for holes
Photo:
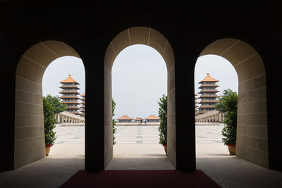
[[[196,126],[197,144],[221,144],[223,125]],[[157,125],[116,126],[116,144],[159,144]],[[60,126],[55,128],[58,144],[84,144],[84,126]]]

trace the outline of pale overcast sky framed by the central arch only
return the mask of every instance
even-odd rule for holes
[[[166,63],[150,46],[133,45],[118,54],[112,69],[114,118],[157,115],[159,98],[167,93]]]

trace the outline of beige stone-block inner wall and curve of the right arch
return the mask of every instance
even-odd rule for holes
[[[239,39],[216,40],[200,56],[208,54],[226,58],[238,74],[236,156],[268,167],[266,72],[262,58]]]

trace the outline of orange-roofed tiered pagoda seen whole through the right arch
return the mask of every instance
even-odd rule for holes
[[[201,94],[201,96],[198,98],[201,99],[201,101],[199,102],[201,106],[198,107],[199,111],[197,112],[197,114],[213,111],[214,105],[219,103],[219,101],[216,99],[216,93],[219,92],[219,90],[216,90],[216,87],[219,87],[219,85],[217,85],[216,82],[219,82],[219,80],[215,80],[209,75],[209,73],[207,73],[207,76],[204,77],[204,80],[199,82],[199,84],[201,84],[199,89],[202,90],[198,93]]]

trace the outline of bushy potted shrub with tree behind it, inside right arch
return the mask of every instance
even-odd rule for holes
[[[226,113],[225,124],[221,133],[223,135],[222,142],[228,146],[228,151],[231,155],[236,154],[236,133],[237,133],[237,109],[238,109],[238,94],[231,89],[223,91],[223,95],[219,98],[219,104],[215,109]]]

